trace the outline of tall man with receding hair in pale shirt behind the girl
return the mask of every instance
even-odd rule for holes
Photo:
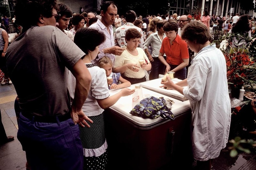
[[[117,15],[116,4],[112,1],[106,1],[100,5],[101,19],[98,19],[96,23],[92,24],[89,28],[98,29],[106,35],[106,40],[100,44],[99,53],[96,59],[92,60],[93,64],[98,64],[100,58],[107,56],[111,59],[113,65],[115,61],[115,55],[120,56],[125,49],[115,46],[114,32],[112,24],[115,21]]]

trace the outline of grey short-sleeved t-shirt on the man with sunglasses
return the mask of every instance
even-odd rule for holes
[[[21,110],[42,116],[70,112],[65,68],[84,55],[57,27],[31,27],[16,38],[7,49],[6,63]]]

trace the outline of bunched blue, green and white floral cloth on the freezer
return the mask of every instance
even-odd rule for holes
[[[165,119],[174,120],[171,108],[166,106],[164,97],[147,97],[136,104],[130,114],[142,118],[156,119],[161,116]]]

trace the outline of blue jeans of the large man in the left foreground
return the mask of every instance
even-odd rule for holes
[[[17,138],[32,169],[83,169],[78,125],[70,118],[56,123],[27,119],[20,113]]]

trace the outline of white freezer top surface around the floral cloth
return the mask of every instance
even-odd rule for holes
[[[129,89],[134,89],[135,86],[132,85],[129,87]],[[163,94],[157,93],[155,91],[142,88],[142,95],[143,98],[149,97],[149,96],[154,96],[154,97],[164,97],[165,100],[171,99],[174,101],[174,104],[172,104],[172,113],[174,114],[174,117],[178,116],[179,114],[182,114],[183,112],[186,112],[190,108],[190,103],[189,101],[180,101],[168,96],[165,96]],[[119,92],[121,89],[113,89],[109,90],[110,96],[113,96],[117,92]],[[142,99],[141,99],[142,100]],[[140,100],[138,100],[138,103]],[[158,117],[157,119],[149,119],[149,118],[141,118],[138,116],[133,116],[130,114],[130,111],[133,109],[132,106],[132,95],[130,96],[125,96],[121,97],[116,104],[112,105],[109,107],[110,110],[113,110],[118,114],[119,116],[123,117],[125,120],[130,121],[132,124],[139,126],[139,127],[151,127],[153,125],[156,125],[160,122],[166,121],[166,119],[162,117]],[[170,120],[170,121],[175,121],[175,120]]]

